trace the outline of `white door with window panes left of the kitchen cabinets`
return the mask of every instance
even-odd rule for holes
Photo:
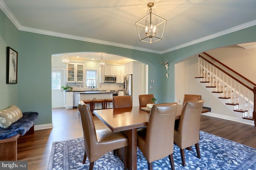
[[[52,69],[52,108],[64,107],[64,91],[61,89],[64,86],[63,72],[61,69]]]

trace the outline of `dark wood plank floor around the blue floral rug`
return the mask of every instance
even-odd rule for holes
[[[47,170],[52,142],[82,137],[77,109],[53,109],[54,128],[36,130],[18,140],[18,160],[28,161],[28,170]],[[105,125],[94,117],[96,129]],[[202,115],[201,130],[256,148],[256,127]]]

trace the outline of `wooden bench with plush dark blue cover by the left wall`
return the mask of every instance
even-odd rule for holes
[[[0,128],[0,160],[17,161],[17,140],[24,134],[34,133],[36,112],[24,112],[22,117],[8,128]]]

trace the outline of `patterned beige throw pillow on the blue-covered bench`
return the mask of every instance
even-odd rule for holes
[[[18,121],[22,117],[22,112],[17,106],[10,106],[4,110],[0,110],[0,127],[8,128],[12,123]]]

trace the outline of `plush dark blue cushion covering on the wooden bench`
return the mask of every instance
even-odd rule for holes
[[[34,121],[38,117],[37,112],[24,112],[22,115],[22,118],[12,123],[8,128],[0,128],[0,140],[16,134],[24,135],[34,125]]]

